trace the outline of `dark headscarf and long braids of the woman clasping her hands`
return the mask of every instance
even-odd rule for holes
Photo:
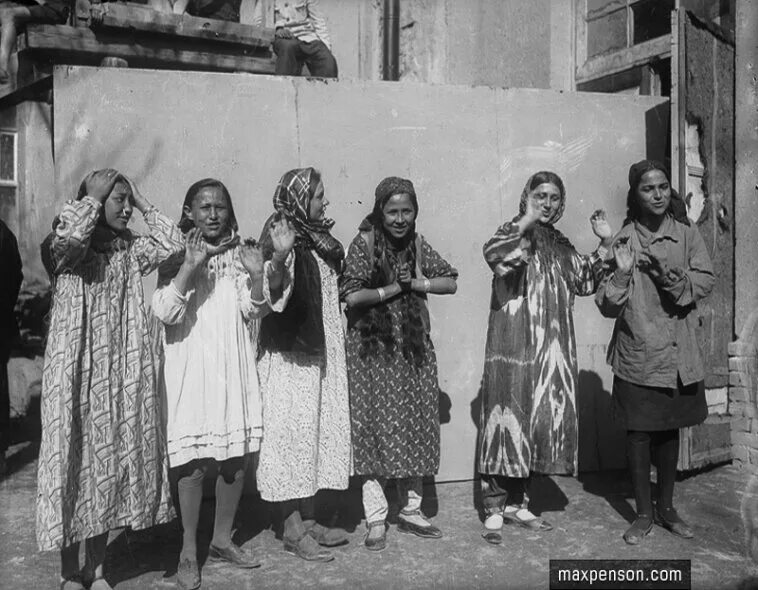
[[[414,212],[418,215],[418,199],[413,183],[405,178],[390,176],[382,180],[374,191],[374,209],[358,227],[368,234],[367,243],[373,245],[371,252],[371,277],[368,287],[384,287],[396,280],[395,269],[400,264],[407,264],[411,276],[416,278],[416,224],[411,225],[402,240],[395,240],[384,230],[384,207],[395,195],[407,194]],[[366,238],[364,238],[366,239]],[[426,350],[426,335],[429,317],[424,305],[425,296],[412,291],[402,293],[393,301],[399,301],[402,337],[395,342],[392,328],[392,314],[389,303],[381,302],[367,308],[351,311],[349,320],[355,323],[361,334],[360,355],[375,355],[380,349],[392,354],[398,347],[403,358],[420,367],[423,365]],[[383,345],[383,346],[380,346]]]

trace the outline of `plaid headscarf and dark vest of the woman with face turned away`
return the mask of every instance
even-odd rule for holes
[[[310,219],[311,201],[321,175],[313,168],[285,173],[274,191],[276,213],[269,217],[261,234],[263,257],[270,260],[274,246],[269,229],[277,218],[285,217],[297,232],[295,240],[295,280],[287,307],[261,320],[261,351],[300,352],[324,359],[326,338],[321,299],[321,273],[311,255],[315,251],[337,271],[342,269],[345,250],[330,230],[331,219]]]

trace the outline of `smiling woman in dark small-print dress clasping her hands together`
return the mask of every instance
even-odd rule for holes
[[[361,223],[340,293],[348,306],[347,361],[354,472],[363,476],[365,545],[386,547],[387,478],[403,505],[398,530],[439,538],[421,513],[423,477],[440,459],[437,358],[428,293],[452,294],[458,272],[416,232],[413,183],[385,178]]]

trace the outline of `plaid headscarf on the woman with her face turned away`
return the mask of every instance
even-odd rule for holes
[[[274,191],[274,209],[290,220],[301,244],[315,249],[324,260],[341,268],[345,250],[330,233],[334,220],[311,219],[309,214],[320,180],[321,175],[311,167],[286,172]]]

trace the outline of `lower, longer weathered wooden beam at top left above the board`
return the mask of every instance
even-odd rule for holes
[[[33,50],[35,54],[50,55],[56,63],[68,63],[67,59],[71,58],[85,59],[91,63],[93,57],[110,56],[121,57],[130,65],[149,62],[151,67],[179,65],[190,69],[274,73],[274,60],[268,57],[166,47],[165,43],[159,44],[150,39],[101,39],[90,29],[63,25],[27,27],[23,47]]]

